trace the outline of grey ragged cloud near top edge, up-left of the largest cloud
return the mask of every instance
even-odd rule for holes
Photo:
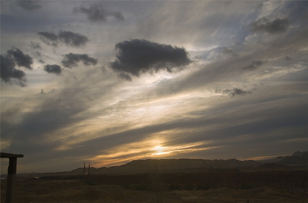
[[[116,19],[124,21],[124,16],[121,12],[106,10],[99,4],[91,5],[89,8],[84,6],[80,6],[79,8],[75,7],[74,12],[87,14],[88,19],[94,22],[105,22],[108,16],[113,16]]]

